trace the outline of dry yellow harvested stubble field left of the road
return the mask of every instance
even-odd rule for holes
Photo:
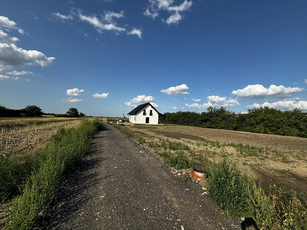
[[[0,151],[3,156],[33,150],[45,142],[58,128],[77,127],[76,118],[25,118],[0,120]]]

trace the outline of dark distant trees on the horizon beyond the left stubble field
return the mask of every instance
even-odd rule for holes
[[[9,109],[0,105],[0,117],[41,117],[42,115],[53,115],[54,117],[85,117],[76,108],[69,108],[65,114],[43,113],[37,105],[27,105],[24,109]]]

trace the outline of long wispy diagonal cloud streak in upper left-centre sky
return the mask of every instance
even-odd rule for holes
[[[83,15],[81,10],[78,10],[78,17],[81,21],[86,21],[93,25],[97,29],[98,33],[102,33],[103,30],[114,30],[116,32],[126,31],[126,28],[116,26],[116,23],[113,21],[105,23],[104,21],[99,20],[95,14],[86,16]]]

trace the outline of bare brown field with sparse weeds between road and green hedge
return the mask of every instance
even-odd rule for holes
[[[181,125],[125,123],[125,127],[144,139],[146,144],[166,139],[187,144],[191,151],[186,153],[190,157],[203,155],[220,160],[226,153],[241,171],[246,171],[256,181],[262,181],[262,187],[275,183],[286,189],[307,190],[306,138]]]

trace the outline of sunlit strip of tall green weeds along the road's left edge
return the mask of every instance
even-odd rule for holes
[[[46,152],[39,157],[37,170],[25,183],[22,194],[13,202],[8,229],[31,229],[56,195],[64,174],[72,170],[90,147],[99,120],[83,120],[78,128],[60,128]]]

